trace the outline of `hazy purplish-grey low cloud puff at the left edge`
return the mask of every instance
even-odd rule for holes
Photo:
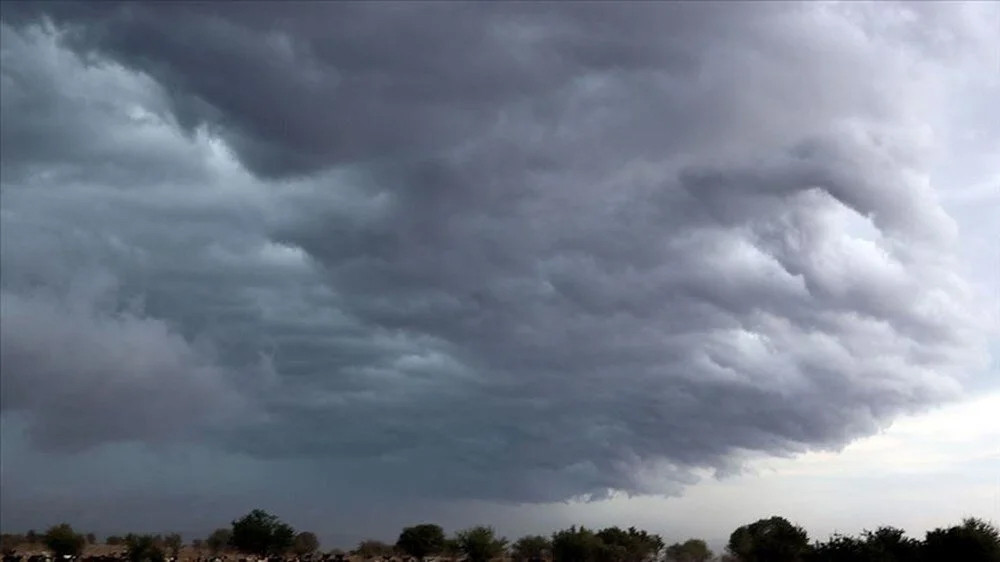
[[[106,291],[70,302],[0,293],[2,405],[27,413],[37,443],[173,440],[239,411],[239,392],[203,353],[162,320],[101,310]]]

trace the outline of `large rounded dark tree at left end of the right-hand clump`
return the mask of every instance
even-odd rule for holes
[[[736,529],[727,548],[741,562],[799,562],[809,552],[809,537],[801,527],[775,516]]]

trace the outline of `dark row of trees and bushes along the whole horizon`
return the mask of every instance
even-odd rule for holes
[[[80,557],[97,542],[92,533],[77,533],[60,523],[44,534],[4,534],[0,539],[5,562],[20,560],[17,553],[46,550],[58,557]],[[93,562],[163,562],[184,558],[179,534],[109,536],[113,557],[86,557]],[[91,548],[95,548],[91,546]],[[995,525],[970,518],[960,525],[928,531],[923,539],[907,537],[893,527],[863,531],[859,536],[836,534],[810,541],[806,531],[782,517],[744,525],[729,536],[725,552],[713,553],[705,541],[689,539],[667,545],[659,535],[630,527],[592,530],[570,527],[550,536],[529,535],[513,543],[498,537],[492,527],[470,527],[447,536],[438,525],[403,529],[395,544],[362,541],[354,551],[322,553],[311,532],[296,533],[276,516],[254,510],[229,527],[193,539],[189,558],[255,556],[299,560],[426,560],[465,562],[1000,562],[1000,532]]]

